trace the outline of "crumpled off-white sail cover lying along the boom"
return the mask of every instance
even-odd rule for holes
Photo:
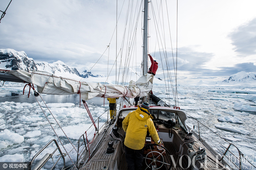
[[[102,85],[97,82],[79,82],[75,79],[57,77],[42,71],[9,71],[25,82],[32,83],[37,86],[37,90],[42,94],[81,94],[81,99],[89,100],[94,97],[130,97],[147,96],[153,88],[153,75],[147,74],[140,77],[137,82],[130,81],[127,87],[121,85]]]

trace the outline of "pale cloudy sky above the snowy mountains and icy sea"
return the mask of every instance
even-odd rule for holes
[[[118,11],[126,1],[118,1]],[[9,0],[0,0],[0,10],[8,4]],[[169,61],[171,48],[176,55],[177,38],[180,82],[218,81],[240,71],[256,72],[255,6],[255,0],[178,0],[177,12],[177,1],[168,0],[172,47],[167,46],[167,54]],[[25,51],[35,62],[61,60],[79,71],[92,68],[100,58],[91,72],[106,75],[115,64],[116,54],[108,53],[116,51],[115,27],[115,0],[12,0],[0,23],[0,48]],[[122,28],[117,30],[121,35]],[[150,39],[156,43],[153,36]],[[117,38],[118,45],[121,41]],[[163,78],[155,45],[148,51],[159,62],[156,76]]]

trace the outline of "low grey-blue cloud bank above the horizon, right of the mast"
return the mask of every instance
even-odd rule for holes
[[[172,56],[171,53],[167,53],[168,56]],[[175,56],[176,54],[174,54]],[[160,61],[161,57],[156,53],[154,56],[157,61]],[[240,71],[255,72],[256,65],[252,62],[238,63],[230,67],[217,67],[218,69],[213,70],[206,68],[204,65],[214,57],[212,53],[194,51],[192,48],[179,48],[177,58],[177,71],[182,79],[216,79],[229,77],[232,74],[236,74]],[[164,60],[163,60],[164,61]],[[173,59],[168,58],[169,70],[173,72]],[[175,59],[176,62],[176,59]],[[166,65],[163,63],[163,65]],[[166,68],[166,66],[164,66]],[[166,71],[166,69],[164,69]],[[162,62],[159,63],[158,73],[163,71]],[[160,74],[157,76],[161,77]],[[172,74],[174,76],[174,74]]]

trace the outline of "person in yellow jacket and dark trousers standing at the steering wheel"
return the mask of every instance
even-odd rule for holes
[[[122,122],[123,130],[126,132],[124,144],[128,170],[141,170],[142,168],[142,154],[147,131],[156,144],[162,145],[148,109],[148,102],[143,102],[141,107],[130,112]]]

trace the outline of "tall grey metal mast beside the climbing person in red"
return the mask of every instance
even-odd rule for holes
[[[148,72],[148,0],[144,0],[143,16],[143,76]],[[142,102],[148,102],[148,96],[144,96]]]

